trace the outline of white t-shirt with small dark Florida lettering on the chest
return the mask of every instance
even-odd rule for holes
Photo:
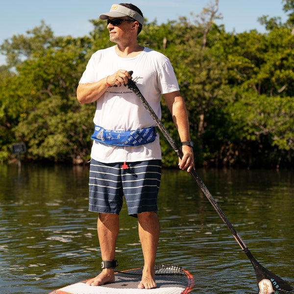
[[[115,46],[96,51],[90,58],[79,83],[94,83],[118,70],[133,71],[133,81],[161,119],[161,95],[179,90],[170,60],[163,54],[144,48],[133,58],[122,58]],[[138,130],[156,126],[139,98],[126,86],[109,87],[97,100],[94,124],[111,130]],[[94,132],[94,127],[93,127]],[[161,159],[159,135],[141,146],[111,146],[93,142],[91,157],[104,163]]]

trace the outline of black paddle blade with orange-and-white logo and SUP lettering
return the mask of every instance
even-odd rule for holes
[[[255,270],[257,284],[260,290],[260,294],[270,294],[273,291],[292,291],[293,287],[290,286],[286,281],[272,273],[270,270],[264,268],[259,262],[253,257],[248,248],[244,250],[245,254],[251,261]]]

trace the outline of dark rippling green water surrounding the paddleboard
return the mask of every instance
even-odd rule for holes
[[[294,171],[198,170],[254,257],[294,285]],[[96,276],[88,167],[0,165],[1,294],[48,294]],[[164,170],[158,263],[195,278],[192,294],[257,294],[253,267],[187,172]],[[143,265],[137,223],[120,215],[118,270]]]

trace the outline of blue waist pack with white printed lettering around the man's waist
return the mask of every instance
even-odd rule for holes
[[[156,137],[156,127],[148,127],[137,131],[107,130],[95,125],[92,140],[114,146],[140,146],[151,143]]]

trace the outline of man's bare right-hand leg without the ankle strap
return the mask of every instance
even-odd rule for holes
[[[159,221],[155,212],[138,214],[139,237],[144,256],[144,269],[139,289],[156,288],[154,277],[155,257],[159,240]]]

